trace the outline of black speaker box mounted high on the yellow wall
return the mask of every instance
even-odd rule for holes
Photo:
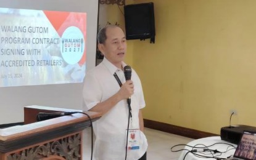
[[[126,39],[151,39],[154,43],[154,3],[130,4],[124,8]]]

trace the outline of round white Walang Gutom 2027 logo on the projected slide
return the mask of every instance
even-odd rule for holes
[[[85,40],[83,33],[76,26],[68,27],[62,34],[60,50],[65,62],[70,65],[78,63],[85,51]]]

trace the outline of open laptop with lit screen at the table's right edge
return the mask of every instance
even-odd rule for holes
[[[237,145],[233,158],[230,160],[239,159],[256,159],[256,133],[244,131],[241,140]]]

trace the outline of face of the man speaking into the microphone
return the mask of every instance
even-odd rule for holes
[[[126,38],[119,27],[109,27],[106,31],[107,39],[99,44],[99,50],[112,64],[120,68],[126,54]]]

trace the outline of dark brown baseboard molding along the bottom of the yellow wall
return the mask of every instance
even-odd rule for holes
[[[175,125],[172,125],[172,124],[152,121],[152,120],[149,120],[149,119],[144,119],[144,127],[147,127],[147,128],[150,128],[150,129],[155,129],[155,130],[160,130],[160,131],[167,132],[167,133],[170,133],[170,134],[181,135],[183,137],[194,138],[194,139],[212,137],[212,136],[219,136],[218,134],[212,134],[212,133],[203,132],[203,131],[200,131],[200,130],[175,126]]]

